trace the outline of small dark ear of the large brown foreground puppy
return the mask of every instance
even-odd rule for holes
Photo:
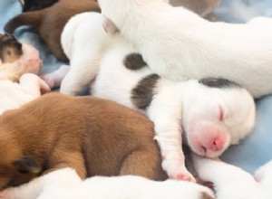
[[[38,166],[36,161],[27,156],[22,157],[20,160],[16,160],[13,165],[21,174],[36,174],[41,171],[41,167]]]

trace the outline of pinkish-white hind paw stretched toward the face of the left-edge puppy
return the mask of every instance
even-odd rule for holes
[[[41,76],[41,78],[50,86],[51,89],[57,88],[61,86],[63,78],[69,70],[69,65],[62,65],[58,70],[44,74]]]

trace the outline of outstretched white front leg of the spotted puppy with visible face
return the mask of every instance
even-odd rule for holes
[[[181,114],[182,103],[179,93],[173,94],[171,89],[161,89],[147,110],[148,118],[154,122],[155,139],[160,146],[162,168],[170,178],[195,182],[185,166],[182,151]],[[165,101],[171,101],[166,104]]]

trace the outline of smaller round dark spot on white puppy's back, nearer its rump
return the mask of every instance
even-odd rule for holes
[[[147,66],[147,63],[143,61],[140,53],[128,54],[123,60],[123,64],[128,70],[132,71],[141,70],[143,67]]]

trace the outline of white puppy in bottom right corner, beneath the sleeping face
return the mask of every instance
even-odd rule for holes
[[[272,161],[257,169],[255,178],[237,166],[193,155],[199,177],[213,183],[217,199],[272,198]]]

